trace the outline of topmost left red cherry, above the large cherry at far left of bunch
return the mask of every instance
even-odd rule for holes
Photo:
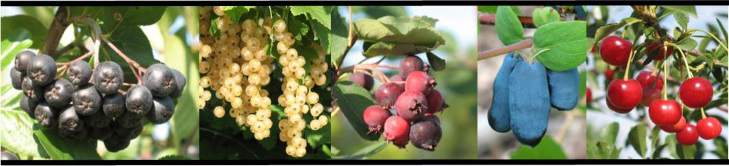
[[[630,41],[617,36],[608,36],[600,43],[600,56],[608,64],[614,66],[625,66],[628,64],[630,49],[633,44]]]

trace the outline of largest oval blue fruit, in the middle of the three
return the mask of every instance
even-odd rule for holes
[[[509,75],[511,129],[522,144],[536,146],[549,121],[547,73],[539,62],[519,61]]]

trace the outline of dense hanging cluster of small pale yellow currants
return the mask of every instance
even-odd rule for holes
[[[238,125],[247,127],[256,140],[263,140],[270,137],[271,127],[276,125],[271,119],[272,97],[267,90],[271,87],[267,86],[271,79],[280,79],[282,94],[276,99],[285,115],[277,124],[278,138],[287,143],[289,156],[303,157],[307,147],[304,129],[308,126],[311,130],[319,130],[329,121],[323,114],[325,108],[319,103],[319,94],[312,90],[326,83],[325,73],[329,66],[324,50],[318,44],[307,45],[318,52],[311,55],[315,58],[304,58],[294,46],[297,41],[288,31],[286,20],[281,18],[261,16],[236,22],[222,7],[203,7],[201,10],[201,21],[213,22],[219,34],[201,32],[202,77],[198,88],[202,93],[198,97],[198,108],[203,109],[211,99],[211,91],[206,90],[211,88],[215,97],[230,104],[227,112],[230,117]],[[213,16],[217,19],[211,21]],[[206,24],[200,25],[201,29],[210,28]],[[279,55],[277,59],[274,51]],[[309,71],[305,69],[307,65]],[[280,70],[282,77],[271,78],[274,70]],[[213,114],[217,118],[224,117],[225,107],[216,106]],[[311,120],[307,122],[307,119]]]

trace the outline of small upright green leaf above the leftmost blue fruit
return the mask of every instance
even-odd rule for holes
[[[511,45],[524,39],[524,27],[517,14],[509,6],[499,6],[496,9],[494,27],[499,40],[504,45]]]

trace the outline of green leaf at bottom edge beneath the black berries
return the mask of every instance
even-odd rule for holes
[[[35,126],[34,128],[42,128]],[[100,160],[96,153],[96,140],[66,140],[48,129],[33,131],[35,140],[53,160]]]

